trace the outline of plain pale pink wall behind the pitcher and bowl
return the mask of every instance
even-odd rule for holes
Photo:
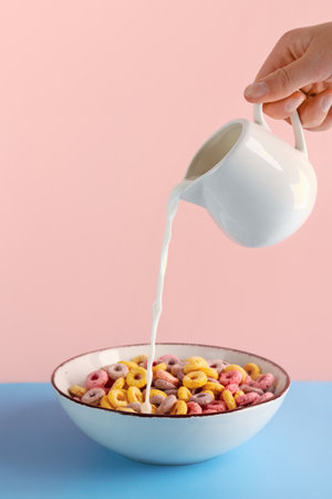
[[[165,207],[203,141],[251,118],[243,88],[320,2],[2,3],[0,380],[148,342]],[[286,123],[272,129],[292,141]],[[309,222],[267,249],[180,203],[158,339],[232,346],[331,379],[332,131],[305,132]]]

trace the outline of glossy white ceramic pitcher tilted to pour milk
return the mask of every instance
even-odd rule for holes
[[[295,147],[271,133],[261,104],[255,121],[234,120],[191,161],[181,198],[206,207],[224,233],[242,246],[261,247],[293,234],[310,215],[317,179],[298,113]]]

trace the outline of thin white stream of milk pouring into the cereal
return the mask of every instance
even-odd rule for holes
[[[172,225],[173,220],[177,212],[178,202],[181,197],[183,191],[187,187],[190,181],[183,181],[177,184],[169,194],[167,208],[166,208],[166,230],[164,234],[163,245],[162,245],[162,254],[160,254],[160,265],[159,265],[159,274],[157,282],[157,294],[156,299],[153,304],[153,323],[152,323],[152,333],[151,333],[151,346],[149,346],[149,355],[147,359],[147,374],[146,374],[146,394],[145,401],[142,405],[142,413],[149,414],[152,411],[152,407],[149,404],[149,393],[151,385],[153,380],[153,361],[155,358],[156,350],[156,336],[158,323],[163,309],[163,289],[164,289],[164,278],[165,272],[167,267],[167,256],[168,256],[168,247],[172,238]]]

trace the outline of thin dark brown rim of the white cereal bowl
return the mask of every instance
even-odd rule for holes
[[[271,398],[270,400],[266,400],[261,404],[257,404],[255,406],[246,406],[246,407],[237,407],[236,409],[232,409],[230,411],[225,411],[225,413],[212,413],[212,414],[186,414],[186,415],[157,415],[157,414],[141,414],[141,413],[126,413],[126,411],[122,411],[122,410],[116,410],[116,409],[106,409],[104,407],[95,407],[95,406],[89,406],[87,404],[82,403],[81,400],[75,400],[74,398],[72,398],[70,395],[65,394],[64,391],[62,391],[60,388],[58,388],[56,384],[55,384],[55,375],[56,371],[64,366],[65,364],[70,363],[71,360],[74,360],[75,358],[79,357],[84,357],[85,355],[90,355],[90,354],[95,354],[97,352],[104,352],[104,350],[111,350],[111,349],[116,349],[116,348],[127,348],[127,347],[136,347],[136,346],[148,346],[149,347],[149,343],[136,343],[136,344],[132,344],[132,345],[116,345],[116,346],[112,346],[112,347],[106,347],[106,348],[96,348],[95,350],[90,350],[90,352],[85,352],[83,354],[79,354],[75,355],[74,357],[70,357],[66,360],[64,360],[63,363],[59,364],[59,366],[56,366],[51,375],[51,384],[54,388],[55,391],[58,391],[59,395],[61,395],[62,397],[68,398],[69,400],[71,400],[74,404],[79,404],[83,407],[90,408],[90,409],[100,409],[100,410],[105,410],[107,413],[113,413],[113,414],[117,414],[117,415],[122,415],[122,416],[128,416],[128,417],[141,417],[141,418],[168,418],[168,419],[186,419],[186,418],[196,418],[196,417],[209,417],[209,416],[224,416],[224,415],[230,415],[234,413],[237,413],[239,410],[243,411],[243,410],[248,410],[248,409],[252,409],[252,408],[257,408],[259,406],[262,406],[263,404],[269,404],[272,403],[274,400],[277,400],[278,398],[282,397],[289,389],[290,384],[291,384],[291,379],[289,374],[287,373],[287,370],[279,366],[279,364],[274,363],[273,360],[270,360],[267,357],[262,357],[261,355],[258,354],[252,354],[250,352],[246,352],[246,350],[239,350],[238,348],[231,348],[231,347],[222,347],[222,346],[218,346],[218,345],[205,345],[205,344],[200,344],[200,343],[177,343],[177,342],[157,342],[157,345],[175,345],[175,346],[197,346],[197,347],[206,347],[206,348],[220,348],[222,350],[230,350],[230,352],[237,352],[240,354],[247,354],[247,355],[252,355],[255,357],[258,357],[262,360],[266,360],[270,364],[272,364],[273,366],[276,366],[278,369],[280,369],[287,379],[286,386],[284,388],[280,391],[280,394],[278,394],[276,397]]]

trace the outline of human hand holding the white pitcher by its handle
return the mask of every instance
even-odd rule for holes
[[[271,118],[286,119],[298,109],[312,131],[332,126],[332,22],[284,33],[245,90],[249,102],[263,103]]]

